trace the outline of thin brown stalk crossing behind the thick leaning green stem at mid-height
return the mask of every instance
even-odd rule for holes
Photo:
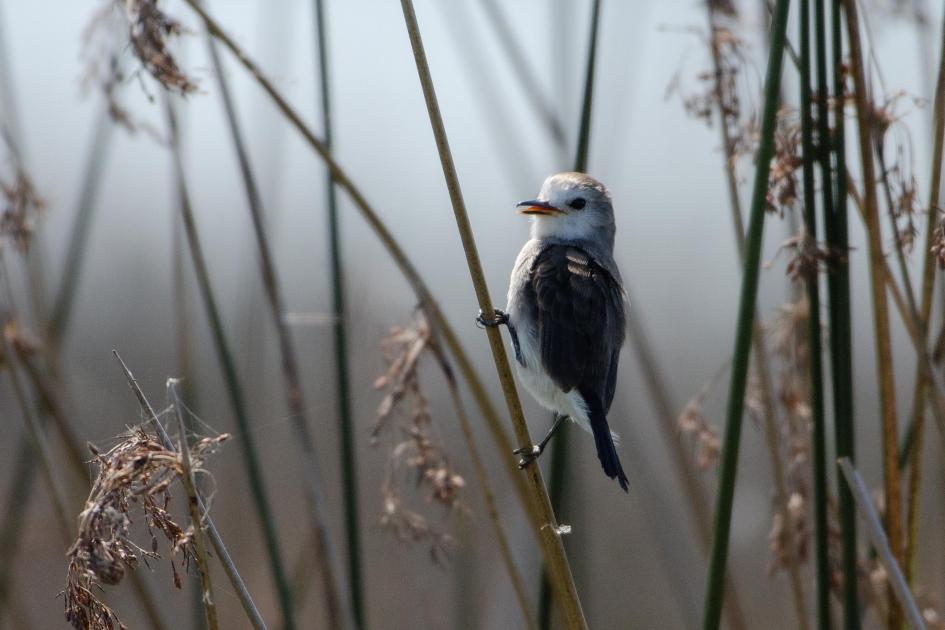
[[[729,128],[728,117],[725,114],[723,69],[721,51],[715,42],[717,26],[715,23],[715,9],[711,2],[706,3],[709,17],[709,50],[712,52],[712,66],[715,74],[715,101],[719,119],[719,133],[722,138],[723,159],[725,162],[725,181],[728,188],[729,207],[732,214],[732,227],[735,234],[735,245],[738,248],[738,259],[745,263],[745,226],[742,219],[741,200],[738,193],[738,175],[735,172],[736,148],[732,130]],[[765,341],[764,326],[761,317],[755,309],[755,324],[752,331],[752,352],[754,354],[754,372],[758,379],[761,393],[762,418],[764,421],[765,446],[768,449],[768,462],[771,465],[771,474],[774,477],[774,505],[781,522],[790,528],[792,520],[788,516],[788,492],[784,479],[784,460],[781,456],[780,429],[778,427],[777,412],[774,408],[774,392],[771,386],[771,371],[768,362],[768,349]],[[804,601],[804,586],[801,580],[798,559],[791,560],[788,567],[788,580],[791,584],[791,599],[794,604],[794,613],[797,616],[798,628],[806,630],[807,603]]]

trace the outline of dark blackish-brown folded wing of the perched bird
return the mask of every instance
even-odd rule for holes
[[[542,365],[564,391],[610,409],[626,315],[619,282],[579,247],[550,245],[532,264]]]

